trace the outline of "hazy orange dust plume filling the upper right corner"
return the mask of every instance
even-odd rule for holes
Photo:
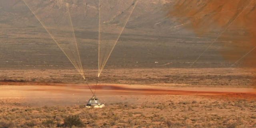
[[[256,0],[176,0],[168,16],[189,23],[184,27],[197,36],[218,39],[215,43],[230,66],[255,72]]]

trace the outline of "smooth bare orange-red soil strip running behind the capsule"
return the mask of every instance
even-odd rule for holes
[[[7,82],[8,83],[8,82]],[[99,96],[133,96],[133,95],[228,95],[228,94],[256,94],[254,88],[197,88],[197,87],[166,87],[126,84],[89,85],[92,91],[96,89]],[[0,98],[68,98],[77,96],[91,96],[86,84],[51,84],[37,85],[2,85]],[[50,94],[50,95],[49,95]],[[59,94],[61,94],[59,96]],[[76,95],[76,96],[74,96]]]

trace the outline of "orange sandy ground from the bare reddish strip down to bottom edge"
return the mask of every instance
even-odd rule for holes
[[[89,128],[256,126],[252,88],[90,85],[106,108],[88,109],[86,84],[16,84],[0,86],[0,126],[65,127],[69,115],[80,117],[77,127]]]

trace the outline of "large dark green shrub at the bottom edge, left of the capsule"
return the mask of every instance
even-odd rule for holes
[[[72,126],[77,126],[77,127],[83,127],[84,124],[80,117],[78,115],[70,115],[64,118],[64,124],[65,127],[72,127]]]

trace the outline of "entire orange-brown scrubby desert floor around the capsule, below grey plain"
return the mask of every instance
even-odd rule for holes
[[[75,70],[1,70],[6,76],[0,82],[0,127],[256,127],[252,74],[208,71],[207,76],[204,68],[108,69],[97,85],[97,78],[88,78],[106,105],[92,109],[85,108],[92,93]],[[173,76],[166,76],[170,72]]]

